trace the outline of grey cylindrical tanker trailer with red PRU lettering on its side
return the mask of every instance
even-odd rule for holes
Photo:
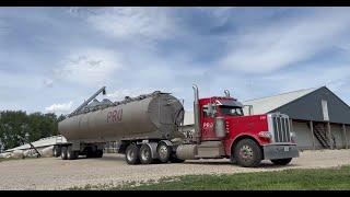
[[[58,131],[67,143],[54,147],[54,155],[74,160],[79,155],[101,158],[104,144],[119,141],[119,152],[126,154],[129,164],[179,162],[168,147],[182,138],[179,125],[184,120],[180,101],[170,93],[155,91],[121,102],[95,97],[105,94],[105,86],[86,100],[66,119],[58,124]],[[173,140],[173,141],[172,141]],[[138,157],[141,152],[143,157]],[[150,155],[149,155],[150,154]]]

